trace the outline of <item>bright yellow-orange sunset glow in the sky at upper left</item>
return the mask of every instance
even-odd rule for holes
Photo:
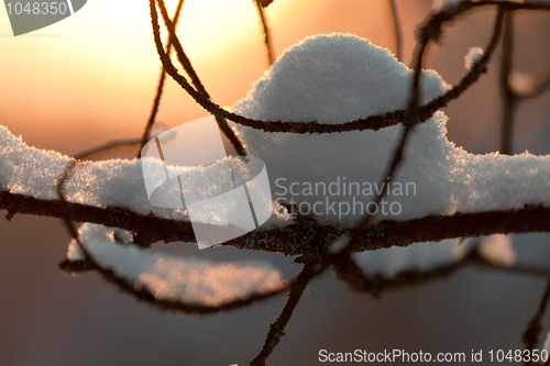
[[[176,3],[167,1],[169,13]],[[384,44],[382,4],[274,1],[266,14],[275,55],[308,35],[334,31],[370,34]],[[349,19],[350,9],[356,10],[358,21]],[[30,145],[74,154],[106,140],[141,135],[161,69],[148,1],[88,1],[70,18],[18,37],[0,11],[0,35],[1,123]],[[178,35],[207,90],[222,106],[243,98],[267,69],[251,0],[187,0]],[[169,79],[157,121],[175,126],[204,115]]]

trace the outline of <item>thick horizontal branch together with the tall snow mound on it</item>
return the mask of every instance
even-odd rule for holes
[[[371,60],[366,65],[358,62],[365,57]],[[330,69],[321,63],[316,65],[317,58],[330,64]],[[307,69],[301,69],[302,65],[308,65]],[[362,74],[370,76],[355,77]],[[422,98],[428,100],[446,90],[447,85],[437,74],[424,75]],[[354,79],[361,82],[354,84]],[[235,108],[253,118],[266,113],[318,113],[318,119],[331,115],[323,122],[338,117],[344,121],[349,113],[377,113],[392,103],[405,103],[407,95],[403,90],[409,80],[410,71],[403,64],[364,40],[338,34],[317,36],[288,51]],[[346,90],[350,84],[374,91],[371,98],[355,100],[354,92]],[[282,99],[299,100],[308,90],[311,96],[295,102],[293,109],[279,108]],[[312,228],[326,228],[331,233],[328,237],[337,239],[353,228],[366,210],[377,211],[373,231],[385,233],[375,247],[498,232],[547,231],[550,221],[541,219],[548,218],[550,207],[550,156],[469,154],[447,140],[446,123],[447,117],[437,112],[418,125],[404,151],[400,170],[392,182],[382,185],[378,182],[403,125],[331,135],[273,134],[233,125],[252,155],[265,162],[274,200],[289,204],[295,215],[310,215],[312,224],[308,229],[302,228],[304,221],[289,224],[292,218],[276,206],[271,226],[229,244],[304,254],[309,246],[297,237]],[[73,162],[69,157],[29,147],[6,127],[0,127],[0,208],[11,214],[66,217],[119,226],[134,233],[134,242],[140,245],[160,240],[193,241],[185,209],[158,209],[150,203],[140,159],[80,163],[65,185],[67,202],[59,202],[56,185]],[[386,198],[373,207],[371,201],[381,191],[387,193]],[[483,220],[483,225],[477,225],[476,220]],[[437,222],[444,225],[433,229]],[[358,249],[372,245],[363,239]]]

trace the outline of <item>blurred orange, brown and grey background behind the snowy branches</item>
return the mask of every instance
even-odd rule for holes
[[[167,1],[170,9],[176,1]],[[414,33],[431,0],[397,0],[409,64]],[[386,0],[275,0],[266,10],[274,49],[317,33],[354,33],[391,47]],[[449,84],[465,73],[464,55],[485,47],[495,12],[454,22],[427,68]],[[178,34],[215,101],[231,106],[266,70],[263,33],[250,0],[187,0]],[[550,15],[518,13],[518,70],[550,73]],[[163,37],[165,38],[165,37]],[[92,0],[65,21],[14,37],[0,10],[0,123],[29,145],[73,155],[110,140],[139,137],[160,75],[145,0]],[[475,154],[498,149],[502,95],[499,51],[475,86],[444,112],[449,140]],[[167,126],[206,115],[170,79],[157,121]],[[550,93],[520,104],[514,153],[550,153]],[[121,151],[118,156],[134,156]],[[2,217],[6,211],[1,211]],[[96,273],[61,273],[69,235],[59,220],[0,218],[0,365],[248,365],[264,342],[285,296],[208,317],[170,315],[136,302]],[[550,235],[514,235],[518,262],[550,267]],[[295,276],[283,255],[195,244],[155,244],[178,255],[216,260],[264,258]],[[465,352],[522,348],[521,334],[538,307],[544,279],[466,268],[446,280],[373,299],[351,292],[329,271],[312,281],[268,359],[317,365],[319,350]],[[544,324],[550,325],[549,321]],[[547,329],[548,331],[548,329]],[[546,333],[544,333],[546,334]],[[486,353],[485,353],[486,354]]]

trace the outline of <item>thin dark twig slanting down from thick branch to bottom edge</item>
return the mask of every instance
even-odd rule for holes
[[[306,289],[307,285],[314,278],[316,274],[316,264],[307,263],[304,269],[298,275],[296,282],[290,287],[290,292],[288,293],[288,300],[283,308],[283,311],[278,315],[277,320],[270,325],[270,332],[264,342],[262,351],[250,363],[252,366],[264,366],[265,361],[272,354],[273,350],[277,346],[283,335],[285,335],[285,328],[288,321],[293,317],[294,309],[300,301],[301,295]]]

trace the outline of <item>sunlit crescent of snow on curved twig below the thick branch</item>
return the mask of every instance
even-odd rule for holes
[[[157,299],[217,307],[285,285],[282,274],[262,260],[220,263],[177,257],[118,244],[114,233],[130,237],[129,232],[96,224],[84,224],[79,230],[82,245],[102,268],[112,269],[135,288],[146,287]],[[82,257],[75,242],[69,245],[68,257]]]

